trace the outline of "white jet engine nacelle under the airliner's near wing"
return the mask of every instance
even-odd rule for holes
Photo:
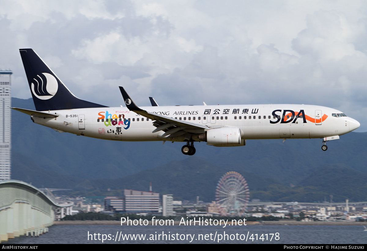
[[[211,146],[244,146],[245,140],[241,140],[241,129],[233,126],[214,128],[199,135],[200,141],[207,142]]]

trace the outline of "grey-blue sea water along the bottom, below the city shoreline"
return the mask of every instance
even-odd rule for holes
[[[127,226],[54,225],[39,237],[16,237],[1,244],[365,244],[363,226],[246,225],[246,226]]]

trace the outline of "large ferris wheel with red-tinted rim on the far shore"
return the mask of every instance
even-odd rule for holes
[[[243,213],[250,199],[247,182],[237,172],[228,172],[219,180],[215,191],[215,201],[226,214]]]

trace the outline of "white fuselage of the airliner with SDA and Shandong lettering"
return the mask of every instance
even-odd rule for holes
[[[241,139],[323,138],[342,135],[359,127],[358,121],[332,114],[342,112],[316,105],[203,105],[146,106],[158,115],[210,128],[238,127]],[[48,111],[47,111],[48,112]],[[153,121],[126,107],[54,110],[56,118],[32,116],[35,123],[92,138],[120,141],[164,141],[163,131],[152,133]],[[251,118],[250,118],[251,117]],[[198,132],[199,134],[200,132]],[[201,132],[202,133],[202,132]],[[170,141],[184,141],[176,137]]]

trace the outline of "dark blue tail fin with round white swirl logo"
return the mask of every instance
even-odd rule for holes
[[[37,111],[108,107],[75,97],[33,49],[19,49]]]

